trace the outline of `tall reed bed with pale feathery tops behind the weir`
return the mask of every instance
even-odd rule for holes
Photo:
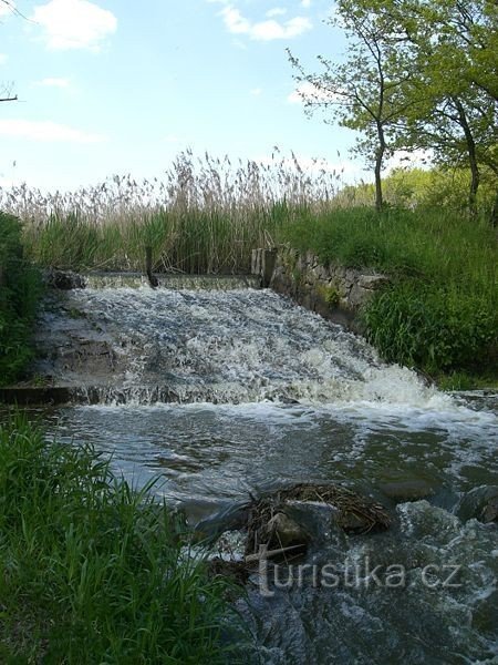
[[[247,273],[251,249],[274,244],[295,212],[328,207],[340,178],[293,154],[232,164],[186,151],[163,180],[114,176],[53,194],[22,185],[0,191],[0,208],[23,221],[39,265],[142,270],[151,246],[156,272]]]

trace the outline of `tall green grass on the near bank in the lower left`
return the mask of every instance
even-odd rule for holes
[[[184,526],[91,448],[0,427],[0,661],[235,663],[229,585],[185,555]]]

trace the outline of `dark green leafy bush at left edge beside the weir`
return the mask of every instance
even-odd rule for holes
[[[21,234],[19,219],[0,212],[0,386],[22,377],[33,357],[31,335],[41,283],[23,258]]]

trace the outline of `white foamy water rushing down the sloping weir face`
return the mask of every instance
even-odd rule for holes
[[[96,386],[103,403],[297,400],[457,409],[415,372],[383,364],[363,339],[269,290],[89,288],[71,291],[64,307],[59,318],[84,313],[84,326],[108,341],[125,368]],[[58,314],[50,316],[46,336],[62,326]],[[74,335],[82,335],[77,326]],[[64,367],[52,368],[58,372],[66,380]],[[84,367],[74,381],[95,385]]]

